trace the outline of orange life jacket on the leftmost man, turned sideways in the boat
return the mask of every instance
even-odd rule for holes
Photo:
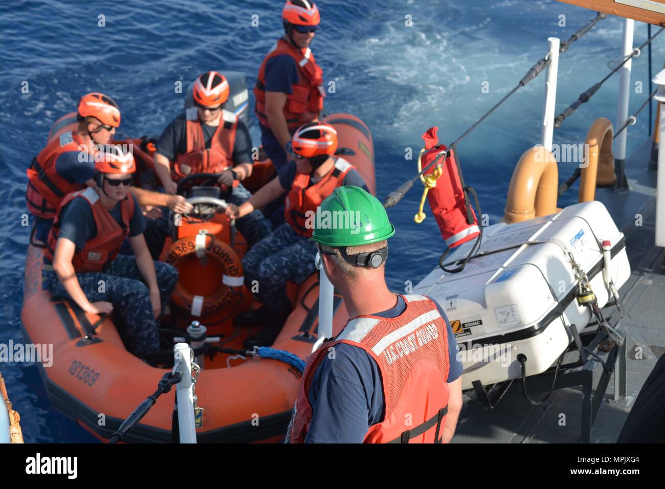
[[[33,216],[53,219],[63,198],[85,187],[84,184],[68,182],[55,169],[58,157],[65,152],[78,151],[80,144],[83,140],[74,132],[64,132],[59,138],[53,138],[33,158],[27,169],[28,187],[25,192],[28,210]]]

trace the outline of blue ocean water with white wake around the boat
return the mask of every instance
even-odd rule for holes
[[[595,17],[554,0],[321,0],[319,8],[323,23],[312,49],[325,80],[335,82],[326,110],[351,112],[372,130],[380,198],[414,174],[416,161],[405,155],[409,148],[418,154],[425,130],[439,126],[441,140],[452,142],[545,56],[548,37],[568,39]],[[101,91],[120,105],[122,134],[159,134],[184,104],[176,82],[186,85],[203,71],[227,69],[244,71],[253,86],[282,33],[280,12],[281,2],[274,0],[0,2],[0,343],[25,341],[25,169],[51,124],[74,110],[80,94]],[[608,73],[608,61],[620,58],[621,38],[622,19],[608,18],[561,55],[557,113]],[[635,45],[646,38],[646,25],[636,23]],[[665,35],[653,43],[654,74],[664,43]],[[632,90],[631,114],[649,91],[646,49],[632,63],[632,82],[641,82],[643,93]],[[521,88],[458,146],[466,182],[477,190],[490,224],[503,216],[519,156],[539,142],[544,83],[541,75]],[[555,131],[554,142],[583,143],[600,116],[616,127],[617,88],[615,75]],[[251,131],[259,144],[256,126]],[[646,134],[645,109],[630,127],[628,154]],[[560,180],[574,169],[561,163]],[[397,228],[386,265],[395,291],[422,279],[444,249],[430,213],[422,224],[413,221],[421,193],[414,186],[388,212]],[[576,198],[577,186],[559,205]],[[51,407],[35,365],[1,363],[0,370],[27,442],[94,440]]]

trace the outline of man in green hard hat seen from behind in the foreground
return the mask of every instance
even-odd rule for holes
[[[449,442],[462,364],[446,314],[429,297],[388,289],[386,240],[395,228],[374,196],[342,186],[320,212],[352,223],[317,219],[310,238],[351,319],[309,357],[287,442]]]

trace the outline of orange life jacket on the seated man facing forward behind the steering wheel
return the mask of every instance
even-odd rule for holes
[[[221,111],[219,126],[205,146],[203,128],[196,107],[188,108],[187,152],[176,156],[173,179],[178,182],[190,174],[219,173],[233,166],[233,145],[238,127],[238,116],[228,110]],[[237,182],[234,182],[234,186]]]

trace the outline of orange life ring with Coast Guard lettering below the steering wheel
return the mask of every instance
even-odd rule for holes
[[[237,298],[239,289],[243,287],[243,265],[231,246],[215,240],[209,234],[189,236],[174,242],[164,261],[180,272],[186,260],[191,255],[196,256],[197,249],[199,254],[205,252],[205,256],[216,261],[223,270],[219,286],[213,293],[197,295],[186,288],[181,275],[171,299],[182,309],[190,311],[193,316],[207,316],[225,309]],[[213,275],[219,276],[217,273]]]

